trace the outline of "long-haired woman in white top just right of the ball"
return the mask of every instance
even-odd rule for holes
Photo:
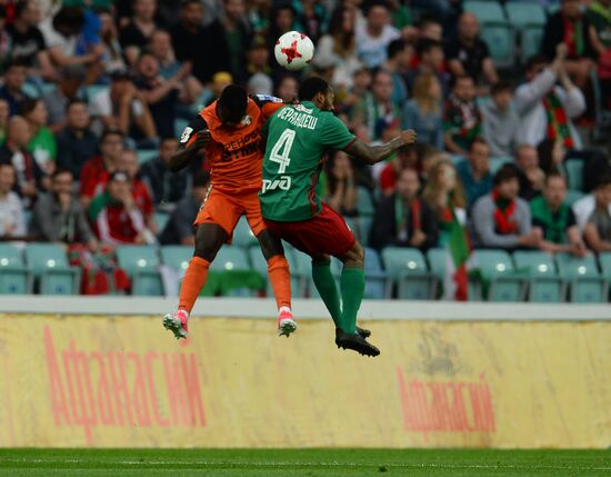
[[[315,49],[313,63],[319,68],[333,68],[332,85],[338,90],[352,88],[354,73],[362,68],[355,43],[357,11],[352,7],[338,7]]]

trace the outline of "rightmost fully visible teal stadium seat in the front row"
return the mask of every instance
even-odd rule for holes
[[[579,304],[607,301],[607,282],[600,276],[592,254],[584,258],[557,254],[555,265],[561,278],[570,284],[570,300]]]

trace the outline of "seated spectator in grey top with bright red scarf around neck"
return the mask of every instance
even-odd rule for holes
[[[513,250],[539,247],[541,230],[532,228],[530,208],[518,197],[520,183],[512,165],[494,175],[492,192],[478,199],[471,213],[474,247]]]

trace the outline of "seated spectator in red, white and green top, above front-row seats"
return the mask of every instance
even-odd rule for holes
[[[106,191],[89,203],[87,212],[102,245],[151,242],[151,233],[133,200],[131,182],[126,172],[116,171],[110,175]]]

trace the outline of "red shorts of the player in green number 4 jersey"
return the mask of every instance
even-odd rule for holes
[[[315,217],[300,222],[278,222],[266,219],[268,229],[309,256],[342,257],[354,247],[357,239],[345,220],[327,203]]]

